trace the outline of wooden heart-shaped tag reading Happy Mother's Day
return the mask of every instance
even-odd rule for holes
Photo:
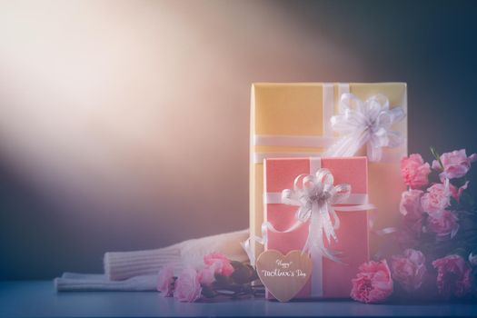
[[[286,255],[275,250],[261,253],[255,263],[263,285],[280,302],[288,302],[299,293],[312,274],[312,260],[302,251]]]

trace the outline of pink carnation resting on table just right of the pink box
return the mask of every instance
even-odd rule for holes
[[[382,303],[393,293],[393,279],[386,260],[363,263],[353,278],[351,297],[362,303]]]

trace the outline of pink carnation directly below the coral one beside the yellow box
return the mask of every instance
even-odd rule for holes
[[[422,190],[408,190],[401,195],[399,211],[404,215],[404,225],[413,233],[420,233],[422,230]]]

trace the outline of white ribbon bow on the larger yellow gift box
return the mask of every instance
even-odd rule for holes
[[[339,114],[331,118],[334,131],[342,136],[324,156],[353,156],[366,144],[370,161],[380,161],[383,147],[397,147],[404,141],[402,134],[391,130],[405,117],[401,106],[389,108],[383,94],[375,94],[365,102],[354,94],[342,94]]]

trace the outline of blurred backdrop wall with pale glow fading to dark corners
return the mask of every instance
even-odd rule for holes
[[[476,8],[1,1],[0,279],[247,227],[253,82],[407,82],[410,151],[477,152]]]

